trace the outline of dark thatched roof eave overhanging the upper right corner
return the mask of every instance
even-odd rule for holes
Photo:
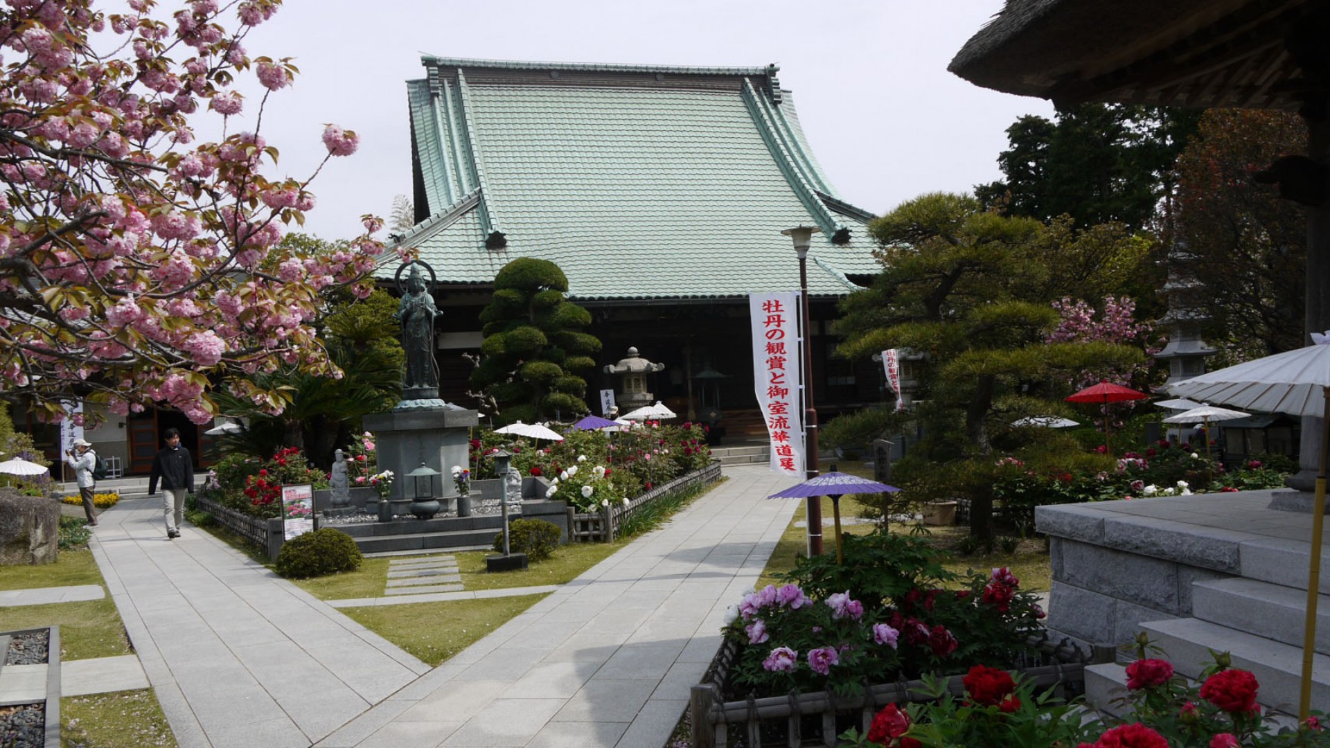
[[[1064,102],[1297,109],[1330,80],[1319,69],[1323,43],[1313,41],[1326,39],[1327,8],[1327,0],[1007,0],[948,69]],[[1303,49],[1298,35],[1309,40]]]

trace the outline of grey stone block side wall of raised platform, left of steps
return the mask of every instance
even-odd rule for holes
[[[1133,499],[1149,502],[1153,499]],[[1043,506],[1053,583],[1048,630],[1089,646],[1129,644],[1141,622],[1192,616],[1192,583],[1237,576],[1238,547],[1224,530],[1181,531],[1172,522],[1104,507]]]

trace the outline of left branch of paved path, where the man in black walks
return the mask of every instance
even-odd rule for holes
[[[182,748],[307,747],[430,668],[154,499],[102,514],[92,550]]]

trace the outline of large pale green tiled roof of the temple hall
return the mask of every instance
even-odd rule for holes
[[[814,294],[879,268],[864,210],[813,157],[775,68],[660,68],[426,57],[408,81],[416,201],[404,244],[440,281],[488,283],[516,257],[553,261],[579,299],[793,290],[782,229],[823,230]],[[849,228],[851,242],[831,234]],[[485,249],[491,232],[508,246]],[[390,268],[384,273],[391,273]]]

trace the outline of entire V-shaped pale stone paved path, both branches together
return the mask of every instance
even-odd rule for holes
[[[92,547],[182,748],[661,748],[798,504],[766,500],[794,480],[765,466],[726,475],[561,587],[336,602],[549,592],[434,669],[205,532],[166,540],[156,499],[121,500]]]

